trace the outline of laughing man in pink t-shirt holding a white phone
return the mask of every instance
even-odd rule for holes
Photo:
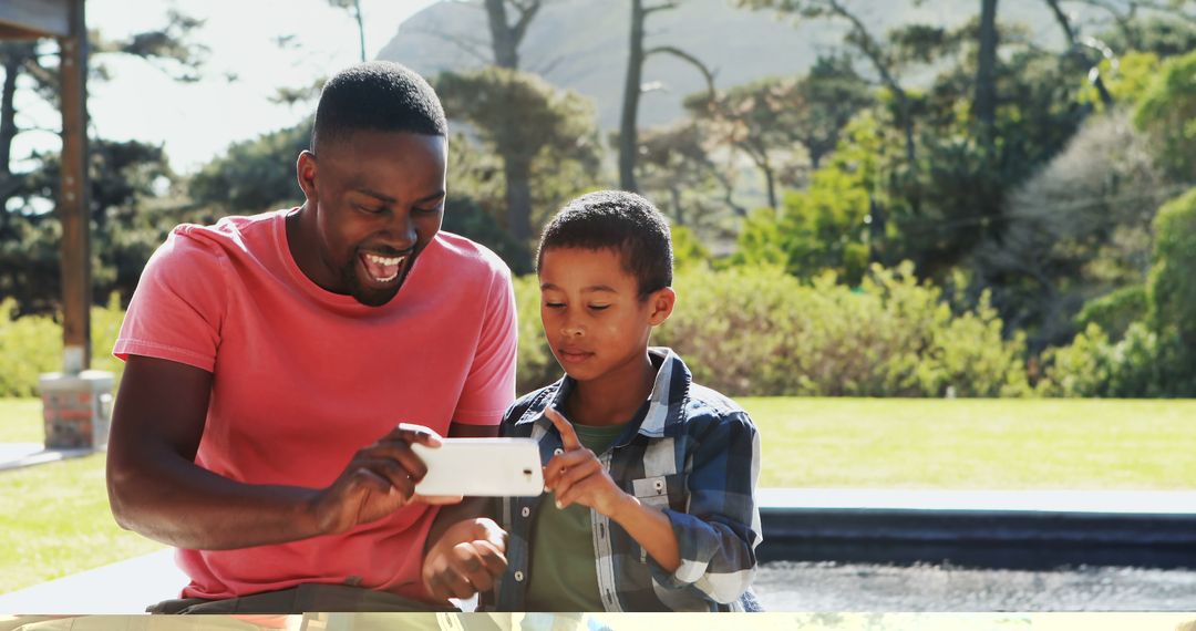
[[[439,232],[446,151],[423,79],[349,68],[299,155],[301,207],[179,226],[146,265],[114,349],[108,488],[191,578],[151,611],[429,607],[441,538],[438,572],[502,571],[493,522],[458,522],[475,507],[438,517],[457,498],[414,495],[413,442],[494,436],[514,397],[509,270]]]

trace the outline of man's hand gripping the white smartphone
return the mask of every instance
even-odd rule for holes
[[[358,451],[336,482],[311,502],[319,532],[343,533],[385,517],[413,501],[459,502],[460,497],[415,495],[415,484],[428,472],[411,451],[415,442],[440,447],[440,435],[422,425],[401,423],[378,442]]]

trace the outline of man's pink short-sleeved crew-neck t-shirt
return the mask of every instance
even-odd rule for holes
[[[498,424],[514,398],[507,267],[439,233],[382,307],[329,293],[287,247],[280,210],[175,228],[150,259],[114,353],[213,373],[195,461],[246,484],[324,488],[397,423],[448,434]],[[169,423],[169,418],[161,422]],[[179,550],[184,598],[346,583],[427,599],[435,508],[415,504],[340,535],[228,551]]]

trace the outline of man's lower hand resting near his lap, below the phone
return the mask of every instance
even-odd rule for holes
[[[423,587],[437,600],[486,592],[507,570],[506,551],[507,533],[494,520],[459,521],[423,557]]]

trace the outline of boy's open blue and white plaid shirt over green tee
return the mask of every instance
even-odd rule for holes
[[[606,611],[751,611],[759,510],[759,434],[734,402],[691,382],[689,368],[667,348],[648,349],[658,366],[647,415],[599,454],[611,478],[672,522],[681,566],[669,574],[622,527],[594,510],[598,588]],[[504,436],[532,437],[547,464],[561,436],[543,416],[563,409],[574,381],[562,378],[507,410]],[[509,533],[508,568],[483,606],[523,611],[529,583],[529,540],[544,495],[496,501]],[[494,601],[496,599],[496,602]]]

